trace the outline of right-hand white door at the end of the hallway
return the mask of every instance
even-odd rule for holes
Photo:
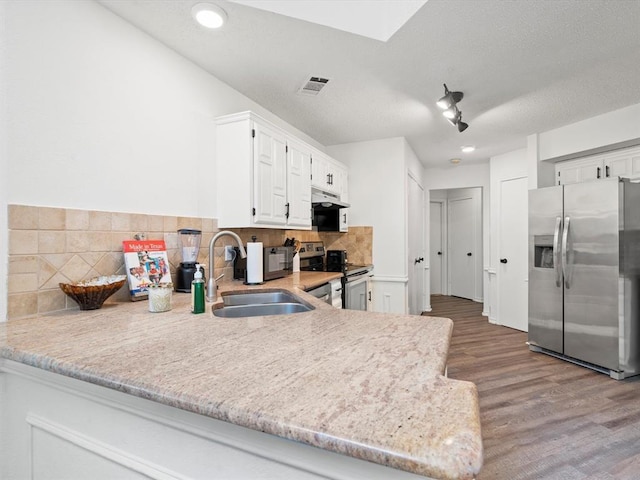
[[[473,199],[449,200],[449,291],[456,297],[474,299],[475,229]]]

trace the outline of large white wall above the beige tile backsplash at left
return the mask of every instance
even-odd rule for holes
[[[214,118],[283,123],[93,1],[6,10],[11,203],[215,217]]]

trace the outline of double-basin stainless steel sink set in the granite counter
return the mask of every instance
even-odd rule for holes
[[[239,318],[266,315],[289,315],[314,310],[295,295],[277,290],[271,292],[222,294],[224,306],[213,309],[216,317]]]

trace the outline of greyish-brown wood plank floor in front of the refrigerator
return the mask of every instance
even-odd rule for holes
[[[449,377],[476,384],[484,445],[478,480],[640,479],[640,377],[530,352],[527,334],[488,323],[482,304],[432,296],[454,321]]]

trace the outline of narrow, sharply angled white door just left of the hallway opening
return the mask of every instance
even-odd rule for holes
[[[424,190],[409,175],[408,178],[408,277],[409,313],[420,315],[424,311]]]

